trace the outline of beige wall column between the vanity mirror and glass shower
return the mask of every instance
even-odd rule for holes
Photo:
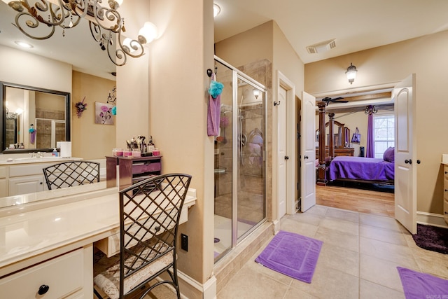
[[[207,69],[213,69],[213,3],[151,1],[151,21],[160,39],[151,44],[150,126],[162,171],[193,176],[197,202],[179,232],[189,251],[179,250],[179,270],[204,283],[214,266],[214,138],[207,137]],[[191,297],[190,297],[191,298]]]

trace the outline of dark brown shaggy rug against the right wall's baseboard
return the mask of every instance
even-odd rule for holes
[[[417,246],[430,251],[448,254],[448,229],[417,223],[417,233],[412,235]]]

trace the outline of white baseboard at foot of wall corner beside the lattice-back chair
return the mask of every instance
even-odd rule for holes
[[[216,277],[213,275],[209,280],[201,284],[187,274],[177,270],[182,298],[216,299]]]

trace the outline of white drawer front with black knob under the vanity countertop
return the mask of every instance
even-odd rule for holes
[[[64,298],[83,288],[83,249],[66,253],[0,279],[2,298]],[[40,286],[49,286],[38,295]]]

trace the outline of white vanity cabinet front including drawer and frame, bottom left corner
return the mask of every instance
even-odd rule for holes
[[[89,246],[27,267],[0,279],[1,298],[91,298],[92,262]]]

